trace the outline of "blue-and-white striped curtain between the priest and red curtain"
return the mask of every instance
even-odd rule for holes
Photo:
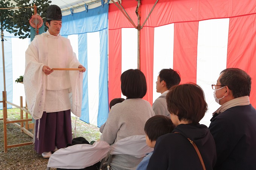
[[[101,126],[108,117],[108,4],[62,17],[61,35],[77,34],[71,41],[79,62],[87,69],[83,77],[81,120]],[[78,46],[78,51],[74,49]],[[78,54],[77,54],[78,53]]]

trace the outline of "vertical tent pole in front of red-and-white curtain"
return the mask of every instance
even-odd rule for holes
[[[138,0],[138,5],[137,5],[137,8],[136,8],[136,14],[137,14],[137,17],[138,17],[138,26],[137,26],[137,30],[138,30],[138,66],[137,68],[140,70],[140,30],[141,30],[141,27],[140,27],[140,23],[141,23],[141,0]]]

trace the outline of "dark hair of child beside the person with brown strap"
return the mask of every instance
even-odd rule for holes
[[[150,141],[155,141],[158,137],[171,133],[174,128],[175,126],[170,117],[156,115],[146,121],[144,131]]]

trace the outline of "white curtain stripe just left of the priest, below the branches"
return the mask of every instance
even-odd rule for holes
[[[26,98],[25,98],[25,92],[24,92],[24,85],[21,83],[15,83],[15,80],[19,78],[21,75],[24,75],[25,51],[29,46],[30,39],[29,38],[26,38],[26,39],[11,38],[11,39],[12,39],[12,79],[13,79],[12,103],[20,105],[20,96],[23,96],[23,105],[25,106]]]

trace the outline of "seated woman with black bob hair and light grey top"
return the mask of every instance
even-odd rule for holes
[[[111,107],[101,140],[109,144],[133,136],[145,135],[146,121],[155,115],[146,95],[147,84],[145,75],[138,69],[129,69],[121,75],[121,91],[127,98]],[[130,155],[113,155],[112,170],[135,170],[143,158]]]

